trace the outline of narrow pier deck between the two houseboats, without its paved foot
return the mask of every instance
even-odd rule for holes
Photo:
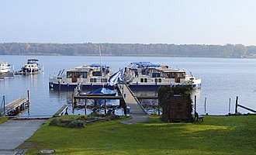
[[[144,107],[141,105],[138,98],[133,94],[133,91],[126,84],[122,84],[123,88],[118,85],[119,91],[123,95],[123,100],[126,105],[130,106],[132,114],[146,114]]]

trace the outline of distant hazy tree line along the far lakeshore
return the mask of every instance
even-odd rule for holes
[[[256,57],[255,46],[161,43],[0,43],[0,55],[99,55],[99,47],[108,56]]]

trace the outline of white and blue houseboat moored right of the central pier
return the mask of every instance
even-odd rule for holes
[[[157,90],[160,86],[192,85],[201,87],[201,79],[186,74],[185,70],[150,62],[133,62],[125,68],[124,81],[132,90]]]

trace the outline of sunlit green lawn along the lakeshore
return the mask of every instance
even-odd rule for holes
[[[74,117],[74,116],[71,116]],[[84,129],[40,128],[21,148],[27,154],[54,149],[57,154],[254,154],[256,115],[205,116],[204,122],[150,122],[125,125],[96,122]]]

